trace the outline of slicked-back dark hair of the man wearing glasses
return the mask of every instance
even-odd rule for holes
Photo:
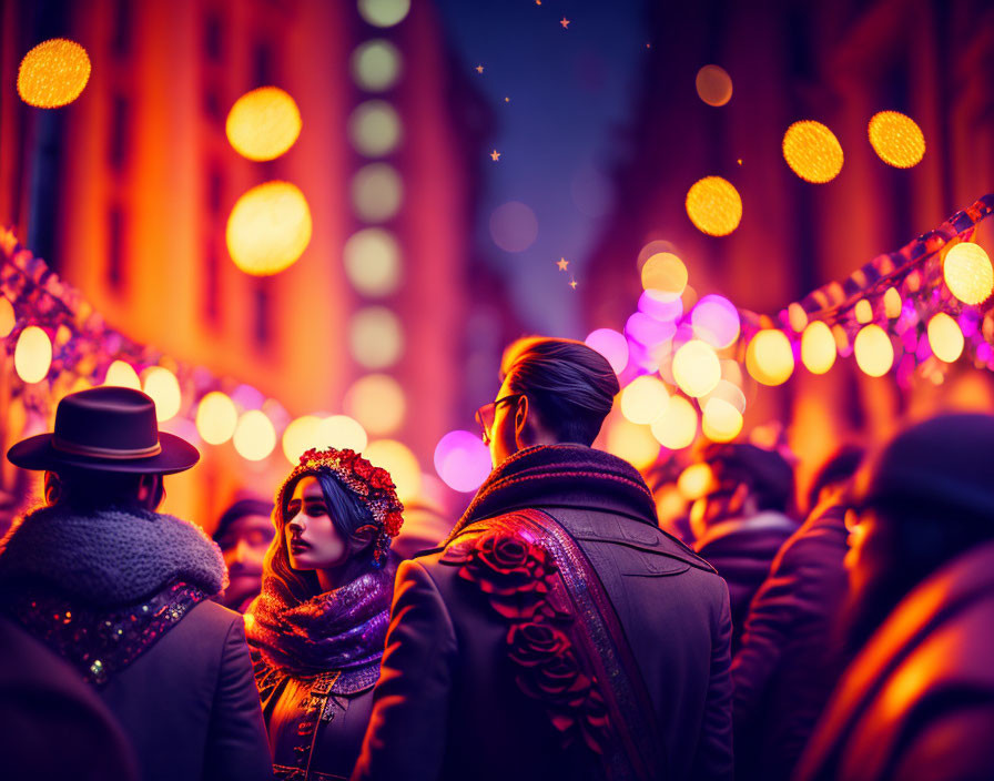
[[[620,390],[607,358],[572,339],[518,339],[504,353],[501,374],[558,442],[581,445],[597,438]]]

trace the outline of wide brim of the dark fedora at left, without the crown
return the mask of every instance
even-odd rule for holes
[[[173,475],[185,471],[200,460],[200,452],[174,434],[160,432],[159,444],[162,450],[146,458],[94,458],[57,450],[52,447],[51,434],[39,434],[17,443],[7,452],[7,459],[22,469],[37,471],[58,471],[59,467],[75,467],[134,475]]]

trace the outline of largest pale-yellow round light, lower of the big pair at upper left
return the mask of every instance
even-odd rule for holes
[[[227,219],[227,251],[246,274],[268,276],[293,265],[311,243],[311,209],[290,182],[252,187]]]

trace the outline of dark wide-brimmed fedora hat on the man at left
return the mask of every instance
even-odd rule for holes
[[[19,442],[7,458],[24,469],[169,475],[192,467],[200,453],[159,430],[155,403],[141,390],[99,387],[65,396],[55,409],[55,430]]]

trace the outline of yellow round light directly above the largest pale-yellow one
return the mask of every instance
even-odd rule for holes
[[[278,87],[246,92],[227,112],[224,131],[235,152],[248,160],[275,160],[301,134],[301,111]]]

